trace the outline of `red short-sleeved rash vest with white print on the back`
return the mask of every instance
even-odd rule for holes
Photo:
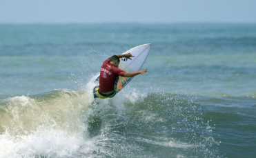
[[[124,77],[124,70],[117,68],[110,63],[110,58],[104,61],[99,75],[99,92],[112,92],[115,90],[115,79],[118,76]]]

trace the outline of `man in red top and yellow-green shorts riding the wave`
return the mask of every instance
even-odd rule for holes
[[[125,72],[124,70],[121,70],[118,68],[120,63],[119,58],[123,57],[130,59],[135,56],[132,56],[130,53],[125,55],[114,55],[104,61],[99,75],[99,86],[96,86],[93,90],[95,98],[99,97],[105,99],[114,97],[117,93],[117,80],[119,76],[135,77],[139,74],[143,75],[148,71],[148,69],[135,72]]]

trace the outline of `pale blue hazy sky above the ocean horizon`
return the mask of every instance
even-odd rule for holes
[[[0,23],[256,23],[256,0],[0,0]]]

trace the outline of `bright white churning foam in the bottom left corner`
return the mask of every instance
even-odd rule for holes
[[[37,128],[30,135],[0,135],[0,157],[70,157],[86,140],[81,134],[72,135],[62,130]]]

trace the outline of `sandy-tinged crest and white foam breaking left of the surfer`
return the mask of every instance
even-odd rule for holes
[[[13,97],[1,105],[0,157],[75,157],[86,140],[86,112],[92,96],[84,90],[55,90],[43,97]]]

